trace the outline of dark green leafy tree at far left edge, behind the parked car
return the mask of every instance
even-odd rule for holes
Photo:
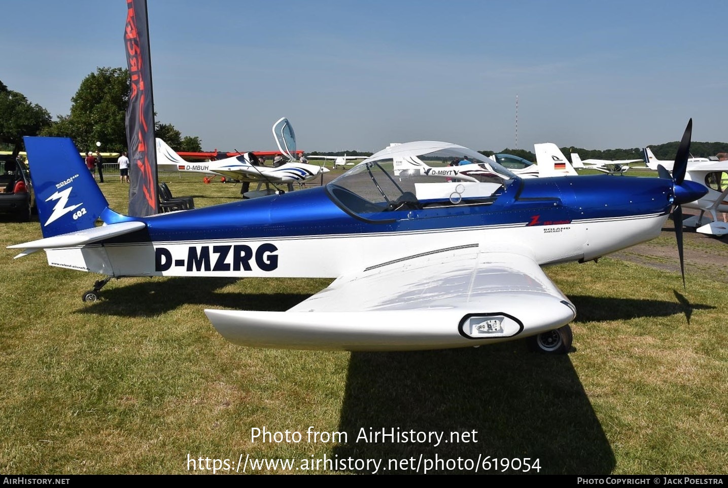
[[[0,81],[0,143],[12,146],[13,156],[23,150],[23,136],[38,135],[51,124],[50,113]]]

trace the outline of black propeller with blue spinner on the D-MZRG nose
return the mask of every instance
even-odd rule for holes
[[[685,287],[685,263],[683,253],[682,238],[682,207],[689,201],[700,199],[708,189],[703,185],[692,181],[685,181],[685,172],[687,171],[687,159],[690,154],[690,139],[692,137],[692,119],[687,123],[683,137],[678,145],[678,153],[675,156],[675,164],[673,164],[673,174],[665,169],[662,164],[657,166],[657,173],[661,178],[673,181],[673,222],[675,223],[675,237],[678,241],[678,255],[680,256],[680,273],[683,277],[683,288]]]

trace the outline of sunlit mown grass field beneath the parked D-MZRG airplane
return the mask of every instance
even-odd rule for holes
[[[105,176],[104,193],[124,212],[127,185]],[[197,206],[239,198],[239,185],[162,180]],[[324,456],[341,473],[374,471],[342,468],[349,458],[413,473],[421,456],[490,456],[500,469],[504,458],[539,460],[530,473],[728,473],[727,285],[689,262],[687,290],[676,273],[625,260],[547,268],[577,306],[568,356],[530,353],[523,341],[280,351],[227,343],[203,309],[285,311],[329,280],[132,278],[82,303],[98,276],[51,268],[42,252],[12,260],[5,249],[39,239],[37,220],[0,229],[1,473],[191,473],[199,457],[231,460],[218,471],[227,473],[241,456],[296,460],[292,470],[260,470],[273,473],[331,472],[302,463]],[[347,442],[309,441],[309,427],[346,432]],[[263,442],[253,428],[303,436]],[[382,428],[470,437],[357,439]],[[472,472],[449,466],[432,472]]]

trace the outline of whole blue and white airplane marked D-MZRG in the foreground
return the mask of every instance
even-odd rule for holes
[[[706,192],[684,181],[691,127],[674,177],[523,179],[462,146],[420,141],[323,187],[151,217],[109,208],[70,139],[26,137],[44,238],[11,247],[108,276],[86,300],[122,276],[335,278],[285,312],[205,311],[241,345],[403,351],[531,337],[540,351],[565,353],[576,310],[541,266],[652,239],[670,210],[681,219],[680,204]],[[491,175],[393,177],[395,159],[409,156],[467,156]],[[677,236],[682,263],[681,228]]]

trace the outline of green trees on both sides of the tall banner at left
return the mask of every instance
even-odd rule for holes
[[[17,156],[24,148],[23,136],[47,135],[71,137],[80,151],[96,151],[97,141],[103,152],[124,151],[129,93],[127,69],[96,68],[71,97],[71,113],[59,115],[54,121],[41,105],[31,103],[0,81],[0,148]],[[173,124],[155,121],[154,132],[175,151],[202,151],[199,137],[183,136]]]

